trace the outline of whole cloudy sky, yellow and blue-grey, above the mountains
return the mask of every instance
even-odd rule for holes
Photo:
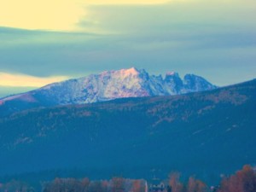
[[[130,67],[256,76],[255,0],[0,1],[0,97]]]

